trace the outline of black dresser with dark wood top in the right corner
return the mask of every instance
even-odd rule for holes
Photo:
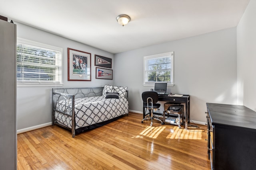
[[[206,103],[208,158],[214,170],[256,169],[256,112]]]

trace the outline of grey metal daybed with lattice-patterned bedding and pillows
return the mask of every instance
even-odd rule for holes
[[[127,87],[53,88],[52,125],[71,129],[72,137],[128,115]]]

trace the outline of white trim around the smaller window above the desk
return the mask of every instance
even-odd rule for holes
[[[152,83],[146,83],[145,80],[146,80],[146,72],[145,72],[145,68],[146,68],[146,60],[148,59],[154,59],[154,58],[160,58],[160,57],[166,57],[166,56],[171,56],[172,58],[172,63],[171,63],[171,68],[172,68],[172,84],[168,83],[167,82],[167,86],[168,87],[173,87],[174,86],[174,52],[169,52],[169,53],[162,53],[162,54],[156,54],[156,55],[150,55],[150,56],[145,56],[144,59],[143,59],[143,86],[154,86],[154,82]]]

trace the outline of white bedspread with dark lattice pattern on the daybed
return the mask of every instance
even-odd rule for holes
[[[71,105],[71,102],[66,104],[65,100],[61,100],[56,104],[56,108],[64,111],[66,106],[71,108]],[[71,115],[71,113],[68,114]],[[128,114],[128,100],[126,98],[106,99],[102,96],[96,96],[75,99],[75,129],[110,120],[124,114]],[[54,116],[59,123],[72,128],[71,117],[56,111]]]

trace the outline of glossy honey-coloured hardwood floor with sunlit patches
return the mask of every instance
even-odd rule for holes
[[[57,125],[18,134],[18,170],[210,169],[204,129],[141,119],[129,113],[75,138]]]

